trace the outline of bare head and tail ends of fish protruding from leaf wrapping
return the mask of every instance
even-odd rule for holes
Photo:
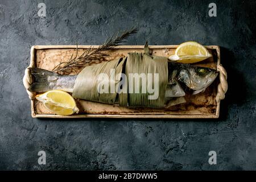
[[[48,90],[73,92],[77,75],[59,75],[40,68],[30,68],[30,71],[34,78],[34,82],[28,88],[31,92],[47,92]],[[218,72],[214,69],[168,62],[168,84],[164,99],[183,97],[184,86],[193,90],[193,94],[200,93],[212,84],[217,75]]]

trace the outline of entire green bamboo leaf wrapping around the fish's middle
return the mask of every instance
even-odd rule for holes
[[[145,47],[148,48],[147,45]],[[167,57],[150,56],[147,52],[129,53],[124,59],[90,65],[85,67],[77,76],[73,97],[114,104],[118,94],[119,106],[164,107],[164,96],[168,82],[167,64]],[[110,76],[112,69],[115,70],[114,77]],[[122,72],[126,75],[125,79],[121,79],[121,74],[119,73]],[[102,76],[101,73],[105,73],[106,76]],[[155,80],[156,75],[158,80]],[[150,76],[151,80],[148,80]],[[98,92],[98,85],[102,83],[107,93]],[[117,90],[114,90],[113,93],[113,90],[110,90],[110,85],[112,84],[116,86],[122,85],[122,92],[117,93]],[[105,88],[105,86],[108,88]],[[155,99],[149,99],[149,96],[154,93],[149,92],[148,88],[154,88],[155,92],[157,89],[157,97]],[[135,92],[136,89],[139,92]]]

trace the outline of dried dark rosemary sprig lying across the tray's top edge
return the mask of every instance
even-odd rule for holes
[[[126,42],[126,39],[137,32],[137,28],[131,28],[131,30],[126,30],[122,32],[119,36],[119,32],[117,35],[112,35],[110,38],[106,39],[105,43],[99,46],[98,48],[90,47],[86,49],[80,56],[78,56],[78,47],[76,47],[76,55],[68,61],[62,62],[58,64],[55,68],[52,69],[53,72],[61,73],[63,75],[69,74],[72,71],[76,71],[77,68],[85,67],[86,64],[90,63],[93,60],[98,60],[103,56],[108,56],[108,54],[104,53],[104,51],[109,51],[113,49],[115,46]]]

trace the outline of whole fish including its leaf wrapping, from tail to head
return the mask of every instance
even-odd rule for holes
[[[214,69],[134,52],[89,65],[78,75],[59,75],[40,68],[30,68],[30,72],[34,78],[28,88],[31,92],[63,90],[73,98],[127,107],[165,107],[184,98],[186,90],[203,92],[218,75]]]

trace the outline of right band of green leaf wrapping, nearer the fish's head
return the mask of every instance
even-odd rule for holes
[[[148,92],[148,88],[143,88],[142,79],[139,82],[134,82],[133,88],[139,86],[140,93],[131,93],[131,88],[129,88],[128,103],[131,107],[164,107],[164,96],[166,93],[167,82],[168,82],[168,59],[166,57],[160,56],[150,56],[146,53],[129,53],[127,56],[127,63],[125,68],[125,73],[127,76],[127,82],[132,80],[129,77],[130,73],[144,73],[148,76],[148,73],[152,73],[152,77],[155,74],[158,74],[159,81],[156,84],[156,80],[152,78],[152,82],[146,78],[146,86],[148,87],[151,84],[152,88],[158,89],[159,96],[157,99],[150,100],[148,96],[152,93]],[[134,81],[134,80],[133,80]],[[157,88],[158,87],[158,88]],[[146,90],[146,93],[143,93],[142,90]],[[134,91],[134,90],[133,90]]]

